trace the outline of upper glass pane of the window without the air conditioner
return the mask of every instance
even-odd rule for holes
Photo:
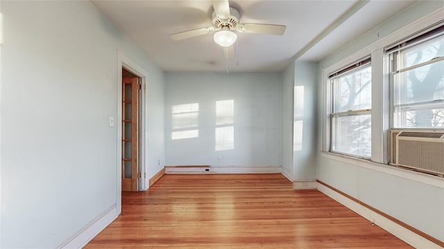
[[[334,83],[333,112],[370,109],[372,105],[371,66],[341,75]]]

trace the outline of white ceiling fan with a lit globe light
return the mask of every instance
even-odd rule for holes
[[[214,42],[224,48],[236,42],[237,35],[234,31],[242,33],[257,33],[269,35],[283,35],[286,26],[275,24],[241,24],[239,12],[231,8],[228,0],[212,1],[214,11],[212,13],[212,26],[196,28],[184,32],[169,35],[174,41],[196,37],[214,32]]]

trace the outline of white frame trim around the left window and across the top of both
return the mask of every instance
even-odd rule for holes
[[[390,75],[390,60],[385,53],[385,49],[391,44],[397,44],[398,42],[416,35],[423,30],[430,27],[438,27],[444,24],[440,10],[435,10],[429,15],[418,19],[417,21],[407,24],[402,28],[399,28],[395,32],[379,37],[377,30],[371,31],[374,33],[375,38],[373,42],[370,42],[367,46],[359,48],[357,50],[348,53],[347,51],[339,51],[331,59],[324,60],[319,63],[319,79],[321,81],[321,152],[323,158],[334,158],[342,162],[348,162],[356,160],[361,162],[359,165],[366,165],[370,162],[376,163],[385,167],[389,167],[392,174],[398,175],[398,168],[393,168],[389,165],[390,158],[390,131],[391,131],[391,87],[389,84]],[[347,53],[342,59],[334,60],[337,57],[341,57],[341,54]],[[355,158],[350,156],[344,156],[341,154],[335,154],[330,152],[330,84],[328,84],[328,75],[339,71],[343,68],[343,65],[357,62],[359,59],[370,55],[372,58],[372,152],[370,161],[361,158]],[[392,169],[393,168],[393,169]],[[411,172],[411,170],[403,169],[402,171]],[[426,176],[429,176],[426,174]]]

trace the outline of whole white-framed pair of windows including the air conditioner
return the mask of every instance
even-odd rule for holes
[[[355,161],[338,156],[347,155],[443,175],[443,160],[438,158],[442,147],[436,145],[442,145],[438,137],[444,132],[441,14],[436,11],[427,21],[406,26],[333,64],[329,63],[335,56],[319,64],[322,149],[330,152],[323,156]],[[360,163],[374,165],[366,160]]]

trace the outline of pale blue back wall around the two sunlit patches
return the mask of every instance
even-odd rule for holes
[[[166,73],[166,165],[280,166],[281,80],[280,73]],[[234,149],[216,151],[219,100],[234,100]],[[198,137],[171,140],[171,108],[191,103],[199,104]]]

